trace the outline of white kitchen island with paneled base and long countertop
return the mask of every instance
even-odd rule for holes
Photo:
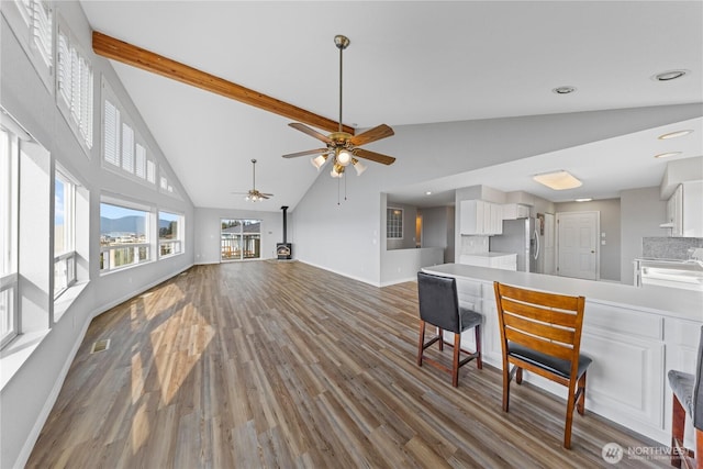
[[[483,361],[502,368],[493,281],[585,297],[581,351],[593,359],[587,379],[588,412],[669,445],[669,369],[693,372],[703,292],[641,288],[542,273],[444,264],[423,269],[457,279],[459,301],[484,317]],[[473,349],[472,332],[461,337]],[[471,371],[476,372],[476,371]],[[525,380],[566,399],[566,388],[525,372]],[[500,400],[500,397],[496,397]],[[574,428],[579,417],[574,416]],[[692,429],[687,431],[688,435]]]

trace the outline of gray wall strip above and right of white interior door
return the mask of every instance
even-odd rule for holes
[[[599,254],[601,280],[621,281],[621,202],[620,199],[594,200],[592,202],[555,203],[559,212],[600,212]],[[605,237],[602,237],[605,234]],[[605,245],[601,242],[605,241]],[[632,268],[631,268],[632,270]]]

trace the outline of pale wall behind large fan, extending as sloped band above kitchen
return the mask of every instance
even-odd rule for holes
[[[370,163],[362,176],[347,175],[341,205],[336,180],[322,171],[295,206],[297,257],[380,284],[379,193],[700,115],[700,105],[685,104],[393,126],[393,137],[368,146],[395,156],[392,166]]]

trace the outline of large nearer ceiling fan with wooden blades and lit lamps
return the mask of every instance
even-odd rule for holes
[[[366,166],[364,166],[361,161],[359,161],[355,157],[381,163],[383,165],[392,165],[393,161],[395,161],[395,158],[393,158],[392,156],[359,148],[359,146],[379,141],[381,138],[390,137],[394,133],[393,130],[386,124],[378,125],[359,135],[352,135],[342,131],[342,53],[349,45],[349,40],[346,36],[336,35],[334,37],[334,43],[339,49],[339,130],[337,132],[331,133],[330,135],[324,135],[299,122],[292,122],[288,124],[291,127],[325,143],[326,147],[291,153],[288,155],[283,155],[283,158],[295,158],[305,155],[319,155],[317,157],[312,159],[312,164],[315,168],[320,169],[327,161],[327,158],[330,156],[333,156],[334,165],[331,175],[333,178],[341,178],[344,175],[344,170],[349,164],[354,166],[357,175],[361,175],[361,172],[366,170]]]

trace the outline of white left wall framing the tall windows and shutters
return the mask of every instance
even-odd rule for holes
[[[101,92],[100,82],[104,75],[116,93],[121,104],[136,123],[136,131],[146,139],[149,150],[154,154],[166,171],[174,175],[165,155],[161,154],[158,144],[154,141],[144,125],[140,113],[134,108],[127,93],[121,86],[110,63],[91,53],[91,29],[82,13],[79,3],[65,1],[54,3],[55,11],[68,24],[71,33],[77,37],[83,52],[91,60],[93,69],[93,147],[90,154],[86,154],[78,144],[72,132],[68,127],[64,115],[56,107],[53,90],[47,89],[38,78],[24,49],[18,42],[14,33],[5,22],[8,9],[15,8],[14,2],[0,2],[2,22],[0,23],[0,101],[2,105],[32,134],[51,154],[49,161],[43,161],[44,170],[53,168],[59,163],[67,171],[77,178],[82,186],[81,191],[88,193],[87,204],[90,213],[89,223],[79,223],[79,227],[87,226],[86,231],[77,233],[77,243],[87,246],[86,252],[80,252],[81,271],[88,277],[89,282],[78,295],[70,308],[52,323],[53,301],[47,292],[47,284],[52,284],[53,265],[51,241],[53,234],[47,228],[47,220],[42,223],[42,244],[40,252],[42,259],[29,260],[23,258],[20,266],[20,275],[26,269],[38,270],[33,273],[38,278],[35,284],[41,286],[40,292],[47,297],[41,308],[45,314],[46,325],[44,331],[35,331],[38,334],[38,344],[33,344],[31,353],[25,348],[23,353],[26,359],[16,372],[7,381],[0,390],[2,412],[0,413],[0,467],[11,468],[23,466],[38,436],[48,412],[60,390],[66,372],[80,345],[83,334],[92,317],[109,308],[133,297],[142,290],[156,284],[193,264],[193,206],[188,199],[180,182],[174,178],[170,182],[183,197],[177,200],[161,194],[157,190],[145,185],[133,182],[114,172],[103,170],[101,167]],[[169,112],[165,110],[165,112]],[[43,180],[51,181],[46,174]],[[26,188],[21,190],[26,193]],[[41,193],[37,203],[41,206],[49,206],[48,211],[41,209],[40,216],[53,213],[53,199],[47,188],[37,188]],[[185,254],[168,259],[153,261],[135,268],[115,271],[109,275],[100,275],[99,271],[99,238],[100,238],[100,196],[110,193],[123,196],[145,204],[177,211],[186,216]],[[24,202],[21,202],[24,204]],[[82,203],[82,202],[81,202]],[[22,217],[31,216],[32,210],[21,212]],[[23,225],[24,227],[24,225]],[[48,233],[46,231],[48,230]],[[48,250],[47,250],[48,249]],[[47,254],[48,253],[48,254]],[[27,265],[27,263],[32,263]],[[36,263],[36,264],[34,264]],[[87,269],[86,269],[87,267]],[[87,279],[87,280],[88,280]],[[48,303],[48,304],[46,304]],[[49,327],[47,330],[47,327]],[[26,339],[26,336],[21,338]],[[11,348],[11,347],[8,347]],[[12,355],[12,356],[11,356]],[[3,350],[0,358],[2,372],[9,369],[7,364],[18,355]],[[4,380],[3,380],[4,381]]]

